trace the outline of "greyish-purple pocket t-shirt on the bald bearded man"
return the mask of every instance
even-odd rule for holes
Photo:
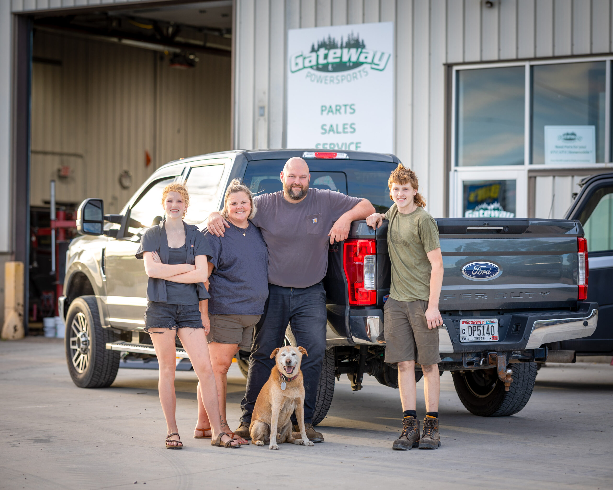
[[[361,200],[313,188],[297,204],[288,203],[283,190],[257,196],[257,213],[251,222],[260,228],[268,247],[268,282],[310,287],[324,279],[330,228]]]

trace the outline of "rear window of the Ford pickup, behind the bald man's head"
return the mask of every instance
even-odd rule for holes
[[[283,190],[280,173],[285,162],[281,159],[249,162],[243,182],[254,194]],[[368,199],[378,213],[385,213],[392,205],[387,179],[396,164],[340,159],[309,159],[307,163],[311,172],[310,187]]]

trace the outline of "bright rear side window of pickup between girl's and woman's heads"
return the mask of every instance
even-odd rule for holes
[[[207,219],[218,206],[217,189],[224,165],[205,165],[194,167],[189,172],[185,183],[189,192],[189,208],[185,215],[185,222],[198,225]]]

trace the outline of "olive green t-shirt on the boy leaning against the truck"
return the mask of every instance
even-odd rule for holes
[[[392,262],[390,298],[428,301],[432,265],[426,254],[441,246],[436,221],[424,208],[409,214],[398,213],[395,203],[385,216],[389,220],[387,249]]]

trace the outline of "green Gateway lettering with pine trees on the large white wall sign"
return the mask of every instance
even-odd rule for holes
[[[318,72],[345,72],[362,65],[370,65],[371,69],[383,71],[391,53],[386,51],[368,50],[360,35],[354,36],[353,32],[340,42],[334,37],[328,36],[311,45],[308,53],[300,51],[294,53],[289,59],[289,70],[292,73],[310,68]]]

